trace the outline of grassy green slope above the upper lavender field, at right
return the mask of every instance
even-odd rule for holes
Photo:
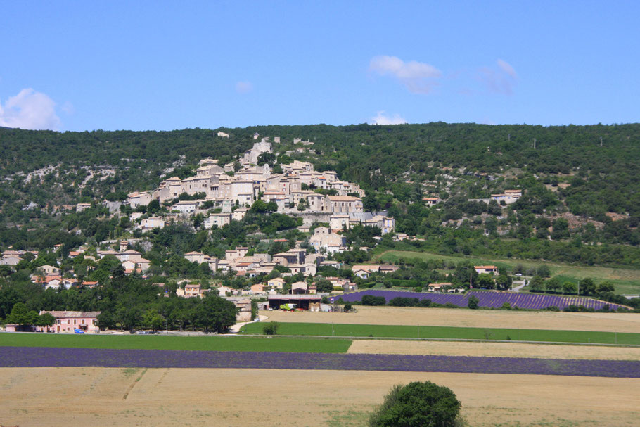
[[[561,281],[572,281],[577,283],[585,277],[594,279],[596,283],[610,281],[615,285],[616,293],[636,294],[640,292],[640,269],[622,269],[611,267],[587,267],[581,265],[560,264],[557,262],[531,261],[531,260],[504,260],[492,257],[454,257],[451,255],[437,255],[425,252],[410,252],[404,250],[387,250],[376,255],[377,261],[396,262],[397,260],[444,260],[447,262],[461,262],[463,260],[475,265],[497,265],[513,269],[516,265],[523,265],[525,268],[539,267],[547,265],[552,276],[557,276]]]

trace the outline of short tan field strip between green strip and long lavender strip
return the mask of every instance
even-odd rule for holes
[[[469,343],[458,341],[354,340],[347,352],[386,355],[640,360],[640,348],[638,347],[605,347],[598,345],[545,345],[520,343]]]

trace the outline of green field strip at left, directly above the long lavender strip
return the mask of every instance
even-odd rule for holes
[[[344,353],[347,352],[350,345],[351,340],[326,338],[0,333],[0,346],[3,347]]]

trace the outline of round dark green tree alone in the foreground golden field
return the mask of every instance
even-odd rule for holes
[[[456,425],[461,403],[451,389],[430,381],[395,385],[371,414],[371,427]]]

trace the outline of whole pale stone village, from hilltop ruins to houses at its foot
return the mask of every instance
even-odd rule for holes
[[[275,140],[279,141],[278,138]],[[147,232],[176,224],[188,224],[195,230],[192,225],[195,217],[202,219],[200,228],[211,230],[222,229],[234,221],[241,222],[250,212],[264,216],[286,215],[293,219],[299,236],[305,238],[294,241],[288,238],[267,239],[265,248],[271,250],[264,251],[236,246],[225,250],[224,256],[219,257],[198,251],[182,255],[188,263],[208,267],[212,277],[252,279],[250,286],[233,288],[215,280],[214,283],[205,280],[203,286],[202,280],[183,279],[177,281],[173,289],[164,282],[157,283],[159,291],[166,295],[174,292],[182,298],[203,298],[208,292],[215,291],[238,307],[238,321],[251,319],[252,302],[248,297],[256,295],[269,296],[270,302],[262,303],[264,307],[278,308],[290,303],[295,304],[292,307],[307,310],[331,310],[330,306],[321,305],[319,294],[356,291],[358,288],[356,283],[345,277],[317,276],[323,267],[331,267],[335,272],[344,267],[343,262],[332,259],[332,255],[354,249],[347,245],[343,234],[356,225],[375,227],[379,231],[374,238],[379,241],[381,236],[394,231],[395,219],[384,211],[364,211],[361,200],[364,191],[357,184],[338,179],[336,172],[316,172],[310,162],[298,160],[289,164],[272,161],[273,166],[262,162],[264,164],[258,166],[262,158],[275,160],[271,142],[265,138],[256,142],[236,162],[219,165],[217,160],[206,158],[200,161],[193,177],[169,177],[157,189],[129,193],[124,203],[115,206],[105,200],[103,208],[108,208],[112,217],[126,218],[125,222],[138,237],[105,240],[98,242],[96,248],[82,245],[72,248],[66,257],[58,257],[63,244],[56,244],[53,247],[56,256],[49,258],[51,265],[37,267],[31,281],[45,289],[94,288],[108,279],[91,280],[91,272],[106,260],[117,260],[125,275],[135,274],[149,279],[152,261],[134,249],[148,243],[145,238]],[[95,208],[95,205],[78,203],[75,210],[84,212]],[[153,205],[162,208],[156,212],[151,209]],[[146,208],[149,208],[148,212]],[[155,212],[153,215],[150,213],[152,210]],[[284,250],[272,250],[279,246]],[[20,262],[24,264],[38,257],[37,251],[6,250],[2,264],[15,267]],[[73,265],[81,260],[86,267],[65,269],[62,266],[64,258]],[[367,279],[373,273],[385,274],[396,270],[393,265],[360,265],[353,267],[352,277]],[[96,279],[95,274],[93,279]],[[63,318],[66,319],[60,317]]]

